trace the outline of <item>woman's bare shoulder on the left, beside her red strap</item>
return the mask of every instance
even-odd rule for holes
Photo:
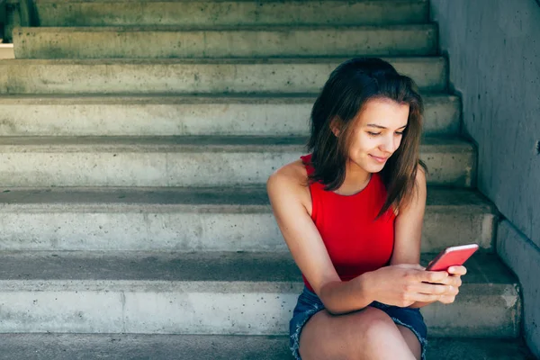
[[[293,196],[306,208],[311,203],[310,189],[307,186],[308,174],[302,160],[296,160],[275,170],[266,183],[268,196],[273,198]],[[290,199],[293,200],[293,199]]]

